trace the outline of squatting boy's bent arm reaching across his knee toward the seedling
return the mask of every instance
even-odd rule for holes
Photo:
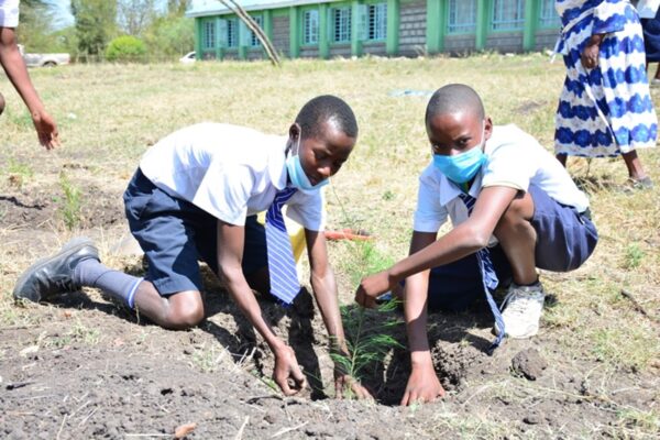
[[[388,270],[363,278],[355,293],[355,301],[363,307],[374,307],[375,298],[392,289],[399,280],[485,248],[517,193],[517,189],[505,186],[483,188],[466,221]]]

